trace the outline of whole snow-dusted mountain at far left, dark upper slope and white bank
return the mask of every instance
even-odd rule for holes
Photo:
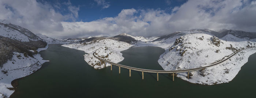
[[[46,62],[38,52],[46,42],[31,31],[0,20],[0,97],[14,92],[11,82],[37,71]]]

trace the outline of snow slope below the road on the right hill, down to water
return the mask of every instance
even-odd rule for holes
[[[177,77],[187,80],[188,82],[198,84],[212,85],[227,83],[235,78],[235,76],[241,70],[242,65],[244,65],[248,61],[249,56],[255,52],[255,48],[244,50],[234,55],[229,60],[226,60],[222,64],[211,68],[206,68],[204,71],[194,71],[192,72],[192,79],[187,79],[185,77],[187,76],[187,73],[179,73]]]

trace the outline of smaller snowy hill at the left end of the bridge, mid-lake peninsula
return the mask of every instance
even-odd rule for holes
[[[95,69],[100,69],[104,68],[104,64],[101,64],[100,61],[93,56],[94,52],[96,52],[96,56],[102,57],[103,59],[112,61],[114,63],[118,63],[124,60],[124,57],[120,51],[126,50],[133,45],[112,39],[102,39],[79,44],[65,44],[62,46],[83,50],[84,52],[88,53],[84,54],[84,60]],[[109,66],[109,64],[106,66]]]

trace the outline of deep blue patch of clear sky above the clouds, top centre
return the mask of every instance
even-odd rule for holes
[[[51,5],[61,4],[61,9],[54,8],[61,14],[68,14],[68,6],[65,3],[70,2],[73,6],[79,7],[78,18],[75,21],[90,22],[105,17],[115,17],[123,9],[161,9],[167,13],[172,12],[172,8],[184,4],[187,0],[105,0],[109,4],[108,8],[102,8],[103,5],[97,4],[94,0],[39,0],[41,3]],[[65,10],[64,10],[65,9]],[[71,22],[72,20],[65,20]]]

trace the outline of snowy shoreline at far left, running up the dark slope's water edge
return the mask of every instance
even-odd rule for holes
[[[38,48],[37,50],[41,51],[46,49],[48,49],[48,45],[46,45],[44,48]],[[21,55],[20,59],[16,56],[17,54]],[[33,58],[26,58],[23,56],[23,53],[14,52],[14,56],[12,57],[12,60],[14,61],[9,60],[7,63],[5,63],[5,69],[8,71],[8,73],[4,75],[4,79],[2,78],[1,80],[1,93],[3,93],[4,96],[11,98],[11,96],[16,93],[15,90],[18,88],[18,81],[20,79],[23,79],[26,76],[29,76],[32,73],[38,71],[42,68],[42,65],[45,62],[49,61],[44,60],[40,53],[37,53],[33,56]],[[15,66],[12,64],[15,64]]]

